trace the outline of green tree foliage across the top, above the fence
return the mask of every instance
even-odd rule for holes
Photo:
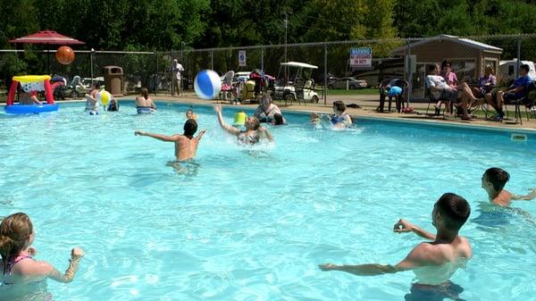
[[[54,29],[98,50],[532,33],[520,0],[4,0],[0,47]],[[378,49],[381,51],[381,49]]]

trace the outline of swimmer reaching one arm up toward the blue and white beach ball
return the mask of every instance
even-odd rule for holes
[[[246,122],[244,123],[246,130],[239,130],[225,123],[222,116],[222,105],[215,105],[214,111],[216,111],[218,122],[220,122],[222,129],[236,136],[241,143],[255,144],[261,139],[267,139],[268,141],[273,140],[270,132],[261,126],[261,123],[255,118],[255,116],[247,117]]]

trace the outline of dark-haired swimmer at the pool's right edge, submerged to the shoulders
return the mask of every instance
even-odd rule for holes
[[[536,189],[532,188],[531,193],[526,196],[516,196],[504,189],[510,174],[498,167],[491,167],[482,174],[482,188],[488,193],[490,202],[495,205],[509,206],[512,200],[530,201],[536,197]]]

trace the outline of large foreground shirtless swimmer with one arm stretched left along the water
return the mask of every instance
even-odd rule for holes
[[[422,238],[431,240],[414,247],[401,262],[395,265],[325,263],[319,267],[322,271],[349,272],[359,276],[413,270],[415,285],[419,288],[426,287],[433,290],[450,285],[451,282],[448,281],[450,276],[473,256],[469,240],[458,235],[458,230],[467,221],[470,213],[471,208],[465,198],[446,193],[435,203],[431,212],[432,224],[437,230],[436,235],[406,220],[400,220],[395,224],[394,231],[397,233],[414,232]]]

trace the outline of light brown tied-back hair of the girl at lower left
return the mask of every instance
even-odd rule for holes
[[[29,235],[33,232],[33,225],[26,213],[13,213],[0,224],[0,255],[4,263],[4,272],[7,260],[17,255],[27,243]]]

